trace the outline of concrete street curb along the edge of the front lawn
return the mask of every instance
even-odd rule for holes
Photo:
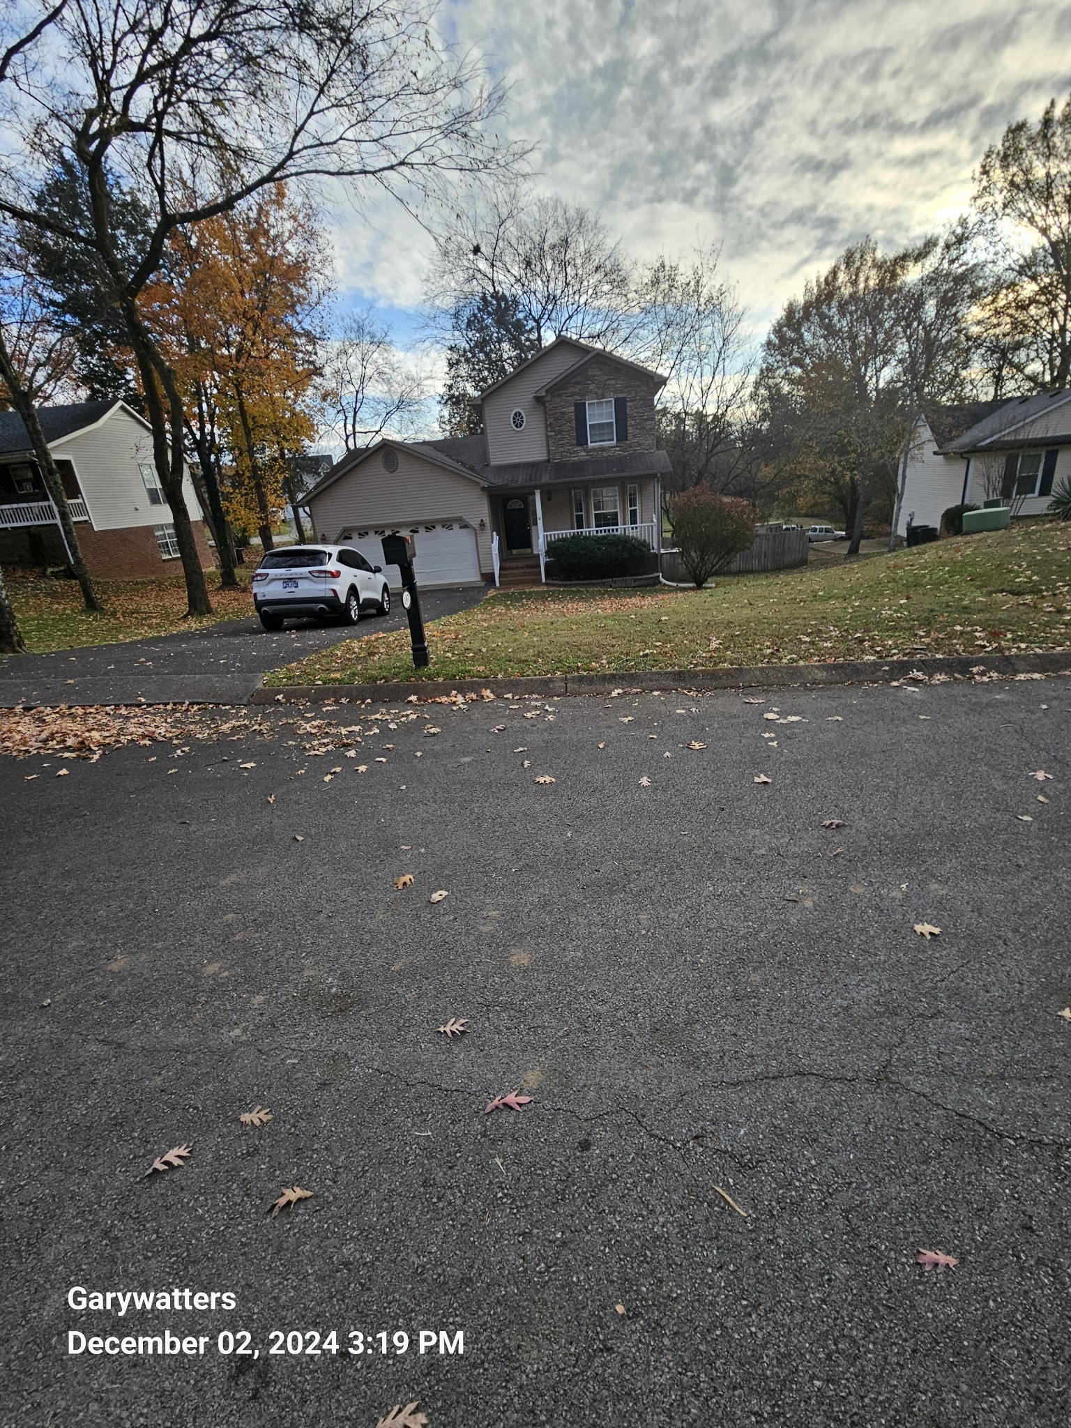
[[[962,680],[972,675],[1010,678],[1015,674],[1071,674],[1071,650],[1045,654],[954,654],[918,660],[845,660],[835,664],[757,664],[751,668],[644,670],[618,674],[563,674],[517,680],[411,680],[398,684],[290,684],[254,690],[250,704],[393,703],[417,694],[424,700],[490,691],[496,698],[561,698],[610,694],[614,690],[735,690],[797,685],[894,684],[912,674],[924,680]]]

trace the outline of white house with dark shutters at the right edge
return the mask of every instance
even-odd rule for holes
[[[941,524],[950,506],[1004,500],[1012,516],[1040,516],[1052,487],[1071,480],[1071,391],[935,407],[920,417],[908,451],[897,534]]]

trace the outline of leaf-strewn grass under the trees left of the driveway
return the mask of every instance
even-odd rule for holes
[[[208,573],[213,614],[197,620],[186,618],[181,574],[161,580],[97,580],[94,587],[104,605],[100,614],[84,608],[74,580],[19,570],[4,570],[4,580],[26,647],[34,654],[153,638],[253,614],[248,575],[243,573],[238,573],[241,590],[220,590],[218,575]]]

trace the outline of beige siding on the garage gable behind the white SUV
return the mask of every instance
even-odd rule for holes
[[[483,487],[414,451],[394,450],[397,471],[387,471],[383,453],[373,451],[308,503],[317,538],[337,541],[357,526],[403,528],[418,521],[463,520],[476,531],[480,570],[490,574],[491,523]]]

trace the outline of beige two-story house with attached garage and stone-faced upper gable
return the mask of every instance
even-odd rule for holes
[[[545,578],[555,538],[624,533],[661,544],[654,398],[665,378],[558,337],[481,393],[483,433],[348,451],[308,493],[320,540],[381,564],[416,536],[421,585]],[[397,578],[390,567],[388,578]]]

